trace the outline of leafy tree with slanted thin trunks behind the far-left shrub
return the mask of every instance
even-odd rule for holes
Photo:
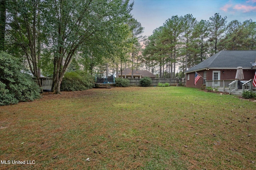
[[[30,71],[40,83],[40,0],[11,0],[8,9],[8,25],[10,26],[10,43],[22,49],[21,56],[26,57]],[[20,56],[19,56],[20,57]]]

